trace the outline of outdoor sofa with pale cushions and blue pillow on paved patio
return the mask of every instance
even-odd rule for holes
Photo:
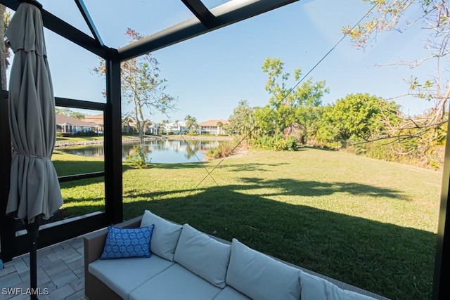
[[[127,241],[121,239],[129,235],[143,237],[139,252],[148,256],[151,250],[151,256],[115,259],[136,255],[122,247]],[[86,235],[84,272],[85,294],[92,300],[386,299],[150,211]]]

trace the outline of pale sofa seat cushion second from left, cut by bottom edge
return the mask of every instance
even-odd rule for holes
[[[129,300],[212,300],[220,291],[219,287],[176,263],[134,289]]]

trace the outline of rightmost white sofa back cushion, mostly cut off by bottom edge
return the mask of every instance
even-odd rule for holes
[[[341,289],[337,285],[300,270],[302,300],[373,300],[372,297]]]

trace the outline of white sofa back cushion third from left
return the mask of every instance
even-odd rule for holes
[[[252,299],[298,300],[299,271],[233,239],[226,284]]]

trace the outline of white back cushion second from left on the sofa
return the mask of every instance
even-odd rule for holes
[[[174,260],[216,287],[225,287],[231,246],[184,224]]]

